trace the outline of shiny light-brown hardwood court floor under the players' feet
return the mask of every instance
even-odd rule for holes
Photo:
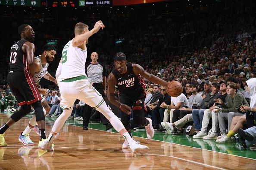
[[[0,124],[10,115],[0,114]],[[31,132],[35,146],[23,146],[18,136],[29,119],[22,118],[6,131],[8,146],[0,147],[0,169],[255,169],[256,160],[212,152],[190,146],[134,137],[150,147],[146,155],[132,155],[122,149],[123,138],[116,133],[65,124],[54,139],[54,152],[38,149],[38,136]],[[47,121],[47,132],[53,122]]]

